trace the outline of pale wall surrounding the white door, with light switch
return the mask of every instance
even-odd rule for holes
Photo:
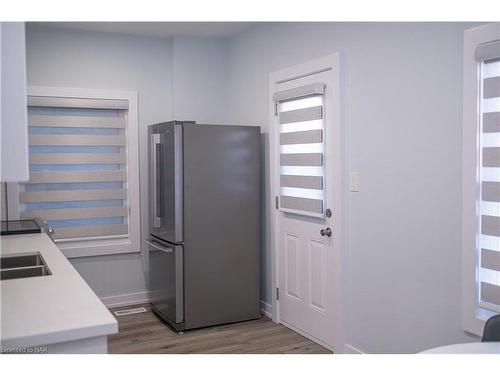
[[[361,181],[359,193],[345,187],[346,340],[362,351],[475,340],[460,316],[462,35],[472,26],[274,24],[231,41],[228,120],[266,132],[269,72],[342,55],[345,165]]]

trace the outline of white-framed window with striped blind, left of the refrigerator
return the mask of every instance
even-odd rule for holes
[[[8,185],[9,218],[46,220],[70,257],[138,251],[136,116],[133,93],[29,90],[30,179]]]

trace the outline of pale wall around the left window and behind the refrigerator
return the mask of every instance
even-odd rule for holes
[[[147,236],[147,126],[227,116],[227,43],[217,39],[161,39],[27,27],[29,85],[133,90],[139,97],[141,235]],[[174,57],[175,50],[175,57]],[[173,78],[175,76],[175,79]],[[147,291],[140,253],[71,259],[106,301]]]

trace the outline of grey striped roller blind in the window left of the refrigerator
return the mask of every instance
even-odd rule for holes
[[[128,235],[127,109],[123,100],[28,98],[21,219],[45,219],[56,241]]]

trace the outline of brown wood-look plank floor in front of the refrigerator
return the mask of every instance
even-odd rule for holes
[[[331,353],[315,342],[267,317],[248,322],[202,328],[178,335],[147,312],[116,317],[119,332],[108,338],[109,353]]]

